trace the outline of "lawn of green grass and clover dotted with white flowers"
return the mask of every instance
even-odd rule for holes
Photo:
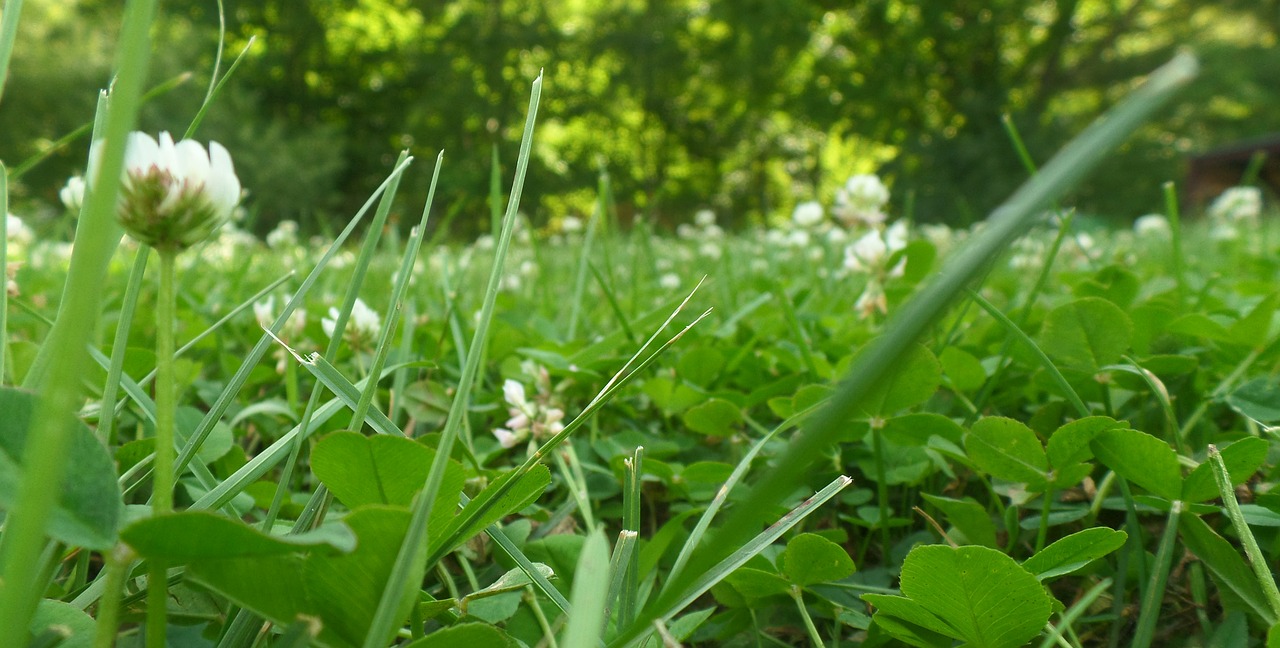
[[[74,245],[20,215],[0,237],[6,645],[1261,645],[1280,621],[1261,193],[1184,223],[1170,186],[1133,231],[1056,206],[1192,56],[1024,152],[966,229],[873,175],[664,233],[623,227],[602,172],[590,218],[531,222],[538,77],[495,236],[428,239],[448,160],[403,154],[333,236],[260,241],[204,113],[133,131],[154,5],[128,12]]]

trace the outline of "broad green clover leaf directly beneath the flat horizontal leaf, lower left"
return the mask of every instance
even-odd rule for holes
[[[356,551],[351,553],[202,560],[187,566],[187,576],[278,624],[288,625],[298,615],[320,619],[320,645],[360,645],[369,634],[408,519],[408,511],[399,507],[365,506],[343,520],[356,534]],[[404,616],[413,602],[404,601]]]

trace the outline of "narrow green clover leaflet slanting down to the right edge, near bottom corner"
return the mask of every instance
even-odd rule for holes
[[[1178,530],[1187,549],[1208,569],[1222,597],[1222,607],[1248,612],[1266,625],[1276,622],[1262,585],[1231,543],[1194,515],[1180,516]]]

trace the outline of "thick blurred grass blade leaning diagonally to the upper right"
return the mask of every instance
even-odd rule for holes
[[[864,396],[890,375],[901,357],[938,321],[960,292],[982,275],[988,260],[1021,236],[1044,205],[1057,200],[1073,187],[1112,147],[1146,122],[1181,86],[1190,82],[1196,72],[1197,61],[1190,54],[1174,58],[1152,73],[1147,82],[1120,105],[1068,143],[1041,173],[997,207],[987,219],[987,227],[955,252],[942,271],[887,323],[886,333],[859,356],[845,379],[836,387],[827,407],[806,420],[806,425],[791,439],[774,469],[756,483],[741,506],[735,507],[707,555],[691,561],[692,569],[681,580],[668,581],[664,592],[650,607],[654,610],[669,607],[671,597],[678,595],[677,592],[689,585],[690,574],[705,571],[719,562],[718,555],[731,551],[749,538],[753,529],[763,521],[762,514],[794,490],[797,479],[808,474],[808,466],[837,438],[836,432],[858,411]],[[645,631],[654,617],[652,613],[641,615],[631,628],[622,630],[621,639],[628,640]]]

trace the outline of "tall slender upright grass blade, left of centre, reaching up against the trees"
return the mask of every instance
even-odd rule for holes
[[[430,566],[425,562],[424,555],[426,547],[426,522],[431,516],[431,505],[435,502],[444,479],[445,462],[449,460],[453,443],[462,429],[462,419],[466,416],[467,406],[471,401],[471,387],[475,383],[480,356],[483,355],[481,350],[489,334],[489,323],[493,319],[494,302],[498,298],[498,289],[502,282],[503,261],[506,260],[507,250],[511,247],[516,211],[520,207],[520,196],[525,187],[525,173],[529,169],[529,151],[532,146],[534,123],[538,118],[538,102],[541,99],[541,90],[543,77],[539,74],[534,79],[529,99],[525,133],[520,142],[520,158],[516,161],[516,178],[512,182],[511,196],[507,201],[507,214],[503,218],[502,236],[499,237],[493,268],[489,274],[484,306],[480,309],[480,321],[476,325],[471,348],[467,351],[467,364],[462,368],[462,377],[458,379],[453,406],[449,410],[449,417],[440,434],[440,444],[436,448],[431,473],[428,475],[421,497],[415,501],[408,531],[404,535],[403,543],[401,543],[390,578],[387,580],[387,587],[383,589],[383,595],[378,602],[378,610],[370,622],[369,634],[365,636],[365,648],[383,648],[390,640],[396,633],[397,624],[403,620],[402,613],[407,611],[402,602],[411,598],[412,592],[417,589],[416,583],[421,581],[424,570]]]

